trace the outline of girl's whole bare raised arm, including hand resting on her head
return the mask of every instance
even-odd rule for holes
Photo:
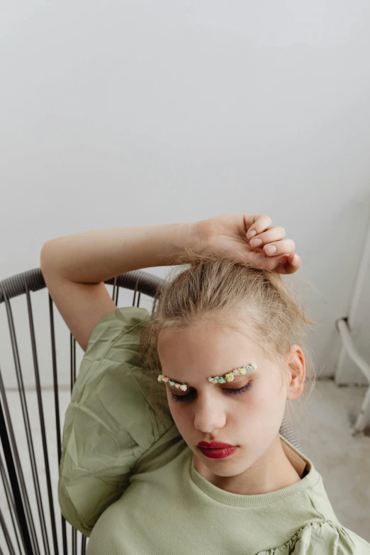
[[[284,228],[271,226],[267,215],[226,214],[197,223],[133,225],[59,237],[43,245],[40,264],[50,296],[85,351],[96,324],[116,309],[103,284],[106,279],[180,263],[185,247],[293,274],[301,258],[294,253],[295,242],[285,236]]]

